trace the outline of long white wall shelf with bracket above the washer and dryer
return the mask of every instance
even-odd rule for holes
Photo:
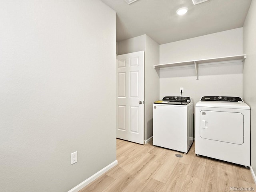
[[[228,57],[218,57],[218,58],[210,58],[210,59],[158,64],[158,65],[154,65],[154,68],[159,69],[159,68],[174,67],[174,66],[194,65],[196,70],[196,79],[198,79],[198,64],[224,62],[224,61],[232,61],[232,60],[238,60],[242,62],[245,58],[246,58],[246,55],[244,54],[244,55],[235,55],[235,56],[228,56]]]

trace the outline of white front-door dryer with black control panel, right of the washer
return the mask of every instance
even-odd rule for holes
[[[204,96],[195,120],[197,155],[250,166],[250,107],[241,98]]]

